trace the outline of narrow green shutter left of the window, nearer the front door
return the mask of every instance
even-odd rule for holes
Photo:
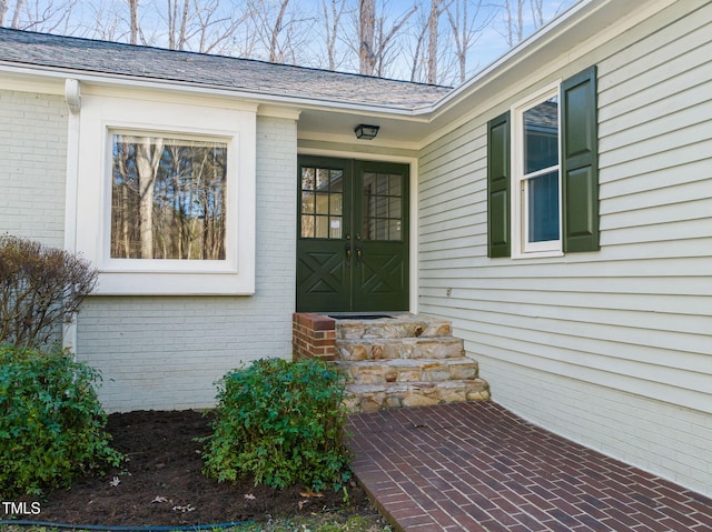
[[[487,257],[510,257],[510,112],[487,123]]]

